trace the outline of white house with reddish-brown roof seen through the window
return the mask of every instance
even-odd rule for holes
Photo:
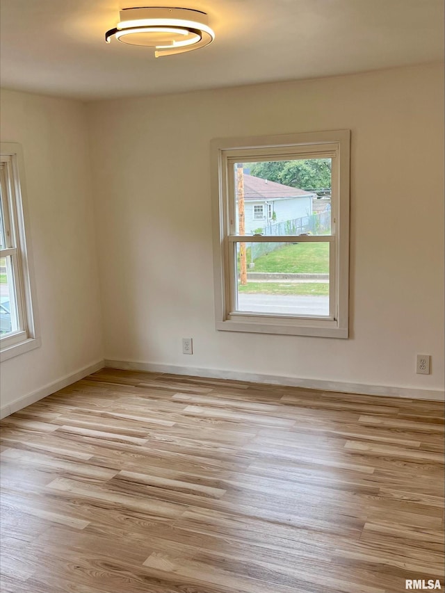
[[[312,200],[317,197],[315,192],[291,188],[250,174],[244,174],[243,177],[246,235],[264,232],[268,225],[312,215]]]

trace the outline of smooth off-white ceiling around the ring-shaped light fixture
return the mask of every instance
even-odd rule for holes
[[[154,58],[146,47],[104,42],[121,8],[147,4],[0,0],[1,85],[102,99],[444,59],[443,0],[175,0],[208,13],[216,33],[209,47]]]

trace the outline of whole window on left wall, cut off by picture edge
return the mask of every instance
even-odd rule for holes
[[[16,143],[1,143],[0,351],[1,360],[37,348],[31,300],[32,269],[26,243],[23,159]]]

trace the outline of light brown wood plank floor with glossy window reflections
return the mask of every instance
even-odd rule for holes
[[[444,590],[443,416],[104,369],[1,422],[1,591]]]

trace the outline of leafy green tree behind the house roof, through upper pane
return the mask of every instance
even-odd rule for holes
[[[318,190],[331,186],[330,159],[252,163],[250,173],[261,179],[305,190]]]

